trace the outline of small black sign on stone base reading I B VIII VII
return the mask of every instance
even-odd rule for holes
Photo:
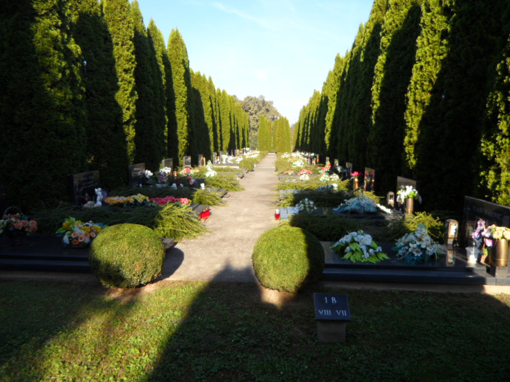
[[[346,294],[314,293],[317,339],[319,342],[345,342],[347,321],[351,321]]]

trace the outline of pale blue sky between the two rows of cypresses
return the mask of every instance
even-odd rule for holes
[[[263,95],[291,124],[335,56],[351,47],[373,0],[138,0],[168,41],[177,28],[190,66],[239,99]]]

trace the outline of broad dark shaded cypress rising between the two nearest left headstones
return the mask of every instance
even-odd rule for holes
[[[96,0],[73,1],[74,38],[84,61],[88,170],[99,170],[101,183],[118,187],[127,183],[127,156],[122,108],[115,95],[118,80],[113,41]]]

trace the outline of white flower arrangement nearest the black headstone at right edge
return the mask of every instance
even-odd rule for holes
[[[392,250],[397,253],[397,258],[412,265],[444,255],[443,248],[427,234],[424,224],[419,224],[416,232],[405,234],[398,239]]]

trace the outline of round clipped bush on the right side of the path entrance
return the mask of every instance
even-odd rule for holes
[[[324,269],[324,250],[311,233],[282,225],[260,235],[251,261],[264,287],[296,292],[320,279]]]

